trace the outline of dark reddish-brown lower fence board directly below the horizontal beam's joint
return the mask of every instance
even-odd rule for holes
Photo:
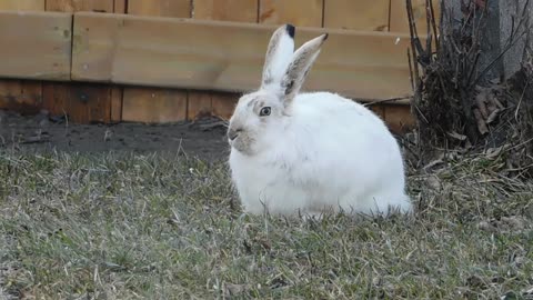
[[[52,116],[67,114],[71,122],[109,123],[111,96],[105,91],[110,92],[110,89],[102,84],[44,84],[43,106]]]

